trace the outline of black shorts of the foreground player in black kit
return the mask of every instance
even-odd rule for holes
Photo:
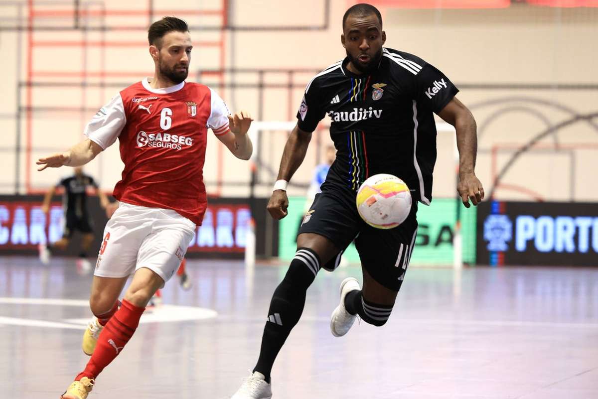
[[[355,240],[362,268],[386,288],[398,291],[409,265],[417,234],[417,202],[409,216],[393,229],[376,229],[361,219],[355,205],[356,193],[324,185],[316,195],[298,234],[315,233],[332,241],[340,253],[323,267],[334,270],[340,256]]]

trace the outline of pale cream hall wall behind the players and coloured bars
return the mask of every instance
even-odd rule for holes
[[[100,2],[93,2],[89,10],[100,10]],[[147,7],[147,2],[118,2],[105,0],[106,10],[139,10]],[[281,68],[281,69],[321,69],[344,56],[340,45],[341,17],[347,7],[346,1],[332,1],[328,29],[262,31],[226,31],[224,40],[225,67],[236,68]],[[177,10],[209,10],[221,7],[221,1],[179,1],[175,5],[166,1],[156,1],[157,13],[176,14],[195,26],[214,26],[221,23],[216,16],[194,16]],[[299,5],[300,4],[300,5]],[[294,1],[231,1],[231,23],[234,26],[322,26],[324,2],[322,0]],[[70,10],[66,5],[37,6],[36,11]],[[478,155],[478,176],[489,191],[492,186],[492,164],[496,169],[504,165],[515,149],[536,136],[546,124],[557,124],[571,118],[571,113],[556,108],[565,107],[573,113],[598,111],[598,90],[576,90],[559,88],[562,84],[598,85],[596,70],[598,56],[595,39],[598,37],[598,10],[558,9],[514,6],[502,10],[385,10],[384,29],[392,48],[408,51],[439,67],[462,88],[459,98],[471,106],[480,128],[480,154]],[[2,26],[17,24],[17,7],[0,5]],[[22,7],[22,23],[27,23],[28,8]],[[130,14],[130,13],[129,13]],[[161,14],[160,14],[161,15]],[[67,26],[71,17],[36,18],[34,26]],[[88,18],[90,27],[99,26],[97,16]],[[147,15],[105,17],[110,26],[147,26]],[[84,20],[81,23],[85,23]],[[196,43],[215,41],[219,32],[192,30]],[[32,162],[48,152],[58,151],[72,145],[81,138],[81,131],[94,109],[115,94],[121,87],[138,81],[152,72],[152,62],[144,44],[147,33],[144,30],[119,30],[117,32],[74,30],[35,31],[33,41],[101,41],[139,42],[131,47],[34,47],[31,53],[33,70],[45,71],[46,76],[34,76],[35,82],[83,81],[91,84],[105,83],[106,87],[26,87],[19,91],[17,84],[28,77],[28,32],[0,32],[0,48],[4,60],[0,72],[4,77],[0,97],[0,191],[14,192],[16,185],[16,156],[14,147],[17,140],[17,120],[15,115],[20,105],[45,107],[50,111],[35,111],[30,120],[32,149],[30,151],[30,173],[26,174],[26,151],[20,154],[19,189],[25,192],[27,176],[31,189],[44,189],[53,184],[63,170],[49,170],[37,173]],[[20,45],[19,45],[20,41]],[[20,53],[20,57],[19,57]],[[17,67],[20,66],[20,67]],[[219,67],[219,51],[213,47],[196,46],[192,69],[213,69]],[[105,71],[106,76],[99,76]],[[57,72],[64,76],[54,76]],[[86,71],[87,75],[81,73]],[[116,75],[118,72],[120,75]],[[19,77],[20,75],[20,77]],[[50,76],[48,76],[50,75]],[[296,73],[294,82],[299,86],[289,97],[285,88],[269,89],[264,92],[265,106],[262,110],[266,121],[286,121],[289,113],[294,115],[300,102],[303,86],[311,72]],[[191,80],[197,79],[193,74]],[[267,83],[287,83],[286,73],[266,73]],[[257,73],[225,74],[225,82],[255,84]],[[217,76],[201,76],[202,82],[217,88]],[[510,85],[509,85],[510,84]],[[514,88],[513,85],[553,85],[546,88]],[[471,87],[471,85],[477,85]],[[481,87],[480,85],[486,85]],[[496,87],[492,85],[504,85]],[[219,90],[224,99],[234,109],[245,108],[258,113],[258,92],[255,88]],[[494,103],[484,105],[494,101]],[[60,108],[89,109],[84,112],[63,112]],[[503,111],[502,113],[500,111]],[[508,112],[507,112],[508,111]],[[498,118],[488,123],[490,116],[499,112]],[[20,119],[20,140],[25,145],[28,136],[28,118],[22,112]],[[598,119],[595,119],[598,125]],[[286,133],[264,132],[263,156],[272,170],[277,170],[286,140]],[[324,131],[315,139],[304,165],[297,172],[294,182],[308,182],[313,165],[318,161],[317,143],[329,143]],[[439,134],[438,163],[435,171],[434,195],[447,197],[454,194],[453,146],[451,134]],[[558,143],[562,148],[554,151]],[[505,146],[508,145],[508,148]],[[493,148],[505,147],[492,156]],[[598,188],[596,182],[598,158],[598,132],[587,123],[572,124],[559,130],[556,136],[541,141],[541,149],[521,156],[507,173],[504,183],[508,188],[498,189],[496,196],[501,199],[532,199],[538,195],[543,199],[595,201]],[[220,158],[221,157],[221,158]],[[219,159],[222,159],[222,177],[225,181],[249,182],[248,165],[222,151],[213,137],[209,139],[206,155],[205,178],[215,182],[218,176]],[[571,165],[575,169],[571,169]],[[121,163],[117,146],[108,149],[91,162],[87,171],[102,182],[105,189],[111,189],[120,177]],[[266,169],[260,171],[262,180],[274,177]],[[531,191],[525,193],[521,188]],[[209,185],[209,191],[216,192],[218,186]],[[267,186],[258,189],[258,194],[267,195]],[[291,194],[300,194],[301,189],[292,189]],[[244,185],[224,186],[220,194],[247,195]]]

